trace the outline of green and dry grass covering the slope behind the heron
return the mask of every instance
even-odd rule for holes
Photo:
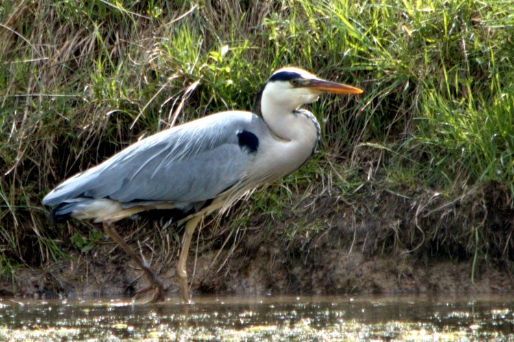
[[[4,1],[0,255],[10,263],[1,265],[37,266],[73,246],[94,248],[98,237],[87,227],[49,224],[40,205],[49,189],[171,124],[249,109],[270,73],[289,64],[365,93],[323,96],[311,106],[322,152],[232,211],[234,226],[247,213],[284,220],[284,207],[294,213],[320,196],[344,198],[364,220],[387,210],[380,194],[395,194],[410,209],[395,246],[437,244],[439,254],[474,265],[487,258],[511,265],[513,242],[502,236],[514,229],[512,8],[441,0]],[[287,246],[319,232],[317,220],[301,222],[279,233]]]

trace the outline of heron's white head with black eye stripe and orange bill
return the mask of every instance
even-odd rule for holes
[[[320,79],[301,68],[288,66],[276,70],[261,90],[260,106],[294,111],[317,100],[319,94],[360,94],[363,90]]]

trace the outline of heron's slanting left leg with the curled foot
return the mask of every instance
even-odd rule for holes
[[[123,238],[117,233],[112,222],[103,222],[103,230],[106,231],[107,235],[109,235],[110,238],[116,242],[125,251],[125,253],[129,255],[129,257],[136,263],[136,265],[138,265],[138,267],[140,267],[140,269],[143,269],[145,276],[147,276],[148,280],[151,282],[151,286],[137,291],[136,296],[153,289],[154,295],[152,296],[151,300],[149,300],[149,303],[164,301],[166,293],[164,291],[164,286],[162,285],[162,280],[160,280],[159,276],[149,267],[145,261],[143,261],[143,259],[138,256],[138,254],[136,254],[136,252],[134,252],[134,250],[132,250],[132,248],[130,248],[130,246],[125,243]]]

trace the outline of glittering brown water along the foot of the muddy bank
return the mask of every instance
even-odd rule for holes
[[[0,300],[0,339],[514,339],[514,295]]]

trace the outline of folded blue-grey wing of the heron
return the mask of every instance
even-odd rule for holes
[[[206,116],[140,140],[53,189],[45,205],[77,197],[120,202],[200,202],[241,180],[253,155],[238,133],[255,120],[237,111]]]

